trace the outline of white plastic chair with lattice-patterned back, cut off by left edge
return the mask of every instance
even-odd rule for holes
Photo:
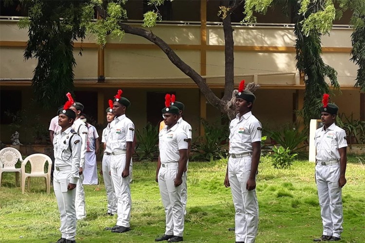
[[[19,175],[21,180],[21,168],[15,168],[15,164],[20,160],[23,162],[20,152],[12,147],[6,147],[0,150],[0,187],[3,172],[15,172],[15,185],[19,184]]]

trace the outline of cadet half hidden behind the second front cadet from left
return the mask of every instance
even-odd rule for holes
[[[111,101],[111,100],[110,100]],[[110,159],[111,159],[111,148],[110,148],[110,122],[114,120],[113,114],[113,102],[111,101],[111,107],[107,108],[107,121],[108,125],[103,130],[101,142],[104,144],[104,155],[101,174],[104,178],[105,190],[107,191],[108,198],[108,215],[112,216],[117,212],[117,197],[114,191],[113,181],[110,174]]]

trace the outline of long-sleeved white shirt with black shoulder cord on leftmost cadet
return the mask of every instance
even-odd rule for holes
[[[55,166],[71,166],[70,183],[76,184],[79,179],[81,138],[71,130],[72,127],[69,127],[64,132],[59,131],[55,134]]]

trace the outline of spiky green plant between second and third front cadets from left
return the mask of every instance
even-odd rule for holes
[[[137,129],[137,148],[136,153],[139,160],[153,160],[158,152],[159,131],[157,126],[152,126],[151,123],[140,131]]]

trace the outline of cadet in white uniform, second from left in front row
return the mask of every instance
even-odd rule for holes
[[[133,151],[134,124],[126,117],[126,109],[130,105],[128,99],[121,97],[122,90],[118,90],[113,104],[114,121],[110,123],[110,172],[117,196],[117,223],[111,232],[123,233],[130,230],[130,210],[132,201],[130,196],[130,171]],[[109,143],[109,140],[108,140]]]

